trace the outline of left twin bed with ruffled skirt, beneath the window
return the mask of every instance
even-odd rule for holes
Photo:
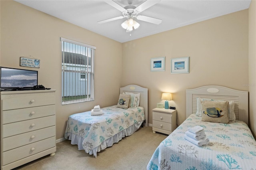
[[[120,88],[120,94],[139,94],[137,107],[119,108],[118,105],[102,108],[102,115],[91,116],[91,111],[70,115],[64,137],[97,157],[97,152],[132,135],[138,128],[148,126],[148,89],[138,85]],[[138,102],[138,101],[137,101]],[[131,101],[130,101],[131,103]]]

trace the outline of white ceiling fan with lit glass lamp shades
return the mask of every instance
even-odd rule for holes
[[[128,6],[122,7],[113,0],[105,0],[107,4],[113,6],[114,8],[118,9],[119,11],[122,12],[123,16],[118,16],[102,21],[98,21],[98,24],[103,24],[106,22],[114,21],[114,20],[119,20],[122,18],[127,18],[125,22],[121,24],[122,28],[126,29],[126,32],[131,32],[134,29],[137,29],[140,24],[134,20],[134,18],[137,18],[137,20],[145,21],[145,22],[150,22],[152,24],[160,24],[162,20],[157,19],[157,18],[152,18],[149,16],[143,16],[143,15],[138,15],[140,12],[150,8],[151,6],[155,5],[156,3],[160,2],[161,0],[146,0],[139,6],[132,6],[132,1],[128,1]]]

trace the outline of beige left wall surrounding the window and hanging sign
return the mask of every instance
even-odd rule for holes
[[[88,111],[94,105],[114,105],[119,96],[122,75],[122,44],[74,26],[15,1],[1,4],[1,66],[22,69],[21,56],[40,59],[38,83],[56,89],[56,138],[64,136],[66,121],[72,113]],[[60,37],[96,46],[95,101],[61,105]]]

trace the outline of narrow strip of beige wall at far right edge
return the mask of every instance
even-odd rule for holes
[[[256,1],[249,8],[249,96],[250,128],[256,137]]]

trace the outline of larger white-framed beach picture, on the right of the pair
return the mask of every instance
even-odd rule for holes
[[[189,57],[172,58],[171,73],[189,73]]]

